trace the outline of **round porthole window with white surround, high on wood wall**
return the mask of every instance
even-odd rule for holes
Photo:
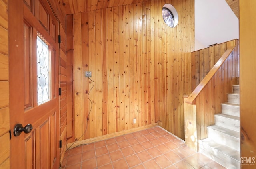
[[[178,12],[171,4],[165,4],[162,8],[162,15],[164,22],[170,26],[175,27],[178,24]]]

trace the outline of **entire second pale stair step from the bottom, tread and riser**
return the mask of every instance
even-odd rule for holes
[[[240,151],[240,132],[217,125],[208,126],[207,130],[211,140]]]

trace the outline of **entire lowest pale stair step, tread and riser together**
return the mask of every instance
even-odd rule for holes
[[[199,141],[199,152],[228,169],[240,169],[240,152],[209,138]]]

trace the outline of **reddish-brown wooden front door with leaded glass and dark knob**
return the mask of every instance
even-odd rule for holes
[[[47,0],[9,1],[12,169],[60,165],[58,30]],[[14,136],[17,124],[33,128]]]

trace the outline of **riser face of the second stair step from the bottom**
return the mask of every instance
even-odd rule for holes
[[[214,140],[216,143],[223,144],[235,149],[236,151],[240,151],[240,138],[224,134],[211,128],[208,128],[208,138]]]

